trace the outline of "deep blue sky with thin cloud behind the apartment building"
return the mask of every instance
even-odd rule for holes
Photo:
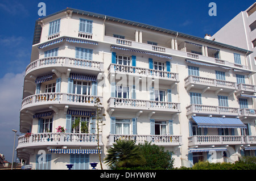
[[[41,18],[38,15],[39,2],[46,3],[46,15],[72,7],[204,37],[205,33],[216,33],[255,1],[1,0],[0,153],[9,162],[14,142],[11,129],[19,130],[23,75],[30,63],[35,20]],[[217,16],[209,16],[210,2],[216,3]]]

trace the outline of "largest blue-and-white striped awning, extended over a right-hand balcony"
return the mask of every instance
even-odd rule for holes
[[[238,118],[192,116],[199,128],[246,128]]]

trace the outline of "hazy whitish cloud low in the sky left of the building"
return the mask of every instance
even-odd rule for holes
[[[19,110],[22,102],[23,73],[7,73],[0,78],[0,153],[11,162],[13,155],[14,132],[19,133]],[[21,134],[20,134],[21,135]],[[16,138],[17,145],[18,139]]]

